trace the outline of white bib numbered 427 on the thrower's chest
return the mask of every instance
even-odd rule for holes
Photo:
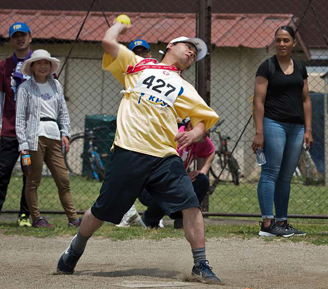
[[[162,69],[145,69],[133,91],[158,97],[172,107],[178,97],[181,85],[182,78],[175,72]]]

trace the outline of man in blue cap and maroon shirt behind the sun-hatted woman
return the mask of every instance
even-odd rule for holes
[[[14,23],[9,28],[9,43],[14,53],[0,61],[0,117],[2,118],[0,140],[0,212],[5,202],[8,184],[15,163],[19,157],[18,141],[15,132],[17,89],[28,76],[20,72],[24,61],[32,51],[31,30],[26,23]],[[23,189],[20,198],[18,225],[30,227],[29,210],[25,199],[26,177],[23,175]]]

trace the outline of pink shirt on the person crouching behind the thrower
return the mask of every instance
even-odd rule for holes
[[[179,132],[184,132],[185,127],[182,126],[179,128]],[[204,142],[196,142],[190,144],[187,148],[184,149],[185,151],[188,152],[187,154],[187,159],[183,161],[185,164],[185,169],[187,170],[192,163],[192,161],[196,158],[207,158],[211,154],[213,154],[215,147],[213,142],[210,140],[209,137],[206,138]],[[179,147],[177,149],[177,152],[179,153],[180,157],[182,158],[182,151],[179,150]]]

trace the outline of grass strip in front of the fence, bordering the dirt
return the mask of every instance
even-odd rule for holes
[[[16,234],[34,236],[39,238],[76,234],[76,228],[67,226],[65,215],[46,215],[54,228],[18,228],[15,221],[0,221],[0,234]],[[221,218],[222,219],[222,218]],[[308,232],[306,236],[279,238],[281,242],[307,242],[316,245],[328,245],[328,221],[327,220],[293,220],[293,225]],[[257,236],[259,226],[254,225],[228,225],[211,224],[205,226],[207,238],[260,238]],[[118,228],[111,223],[105,223],[93,236],[101,236],[112,240],[184,238],[183,230],[174,230],[173,225],[165,228],[144,229],[140,225],[130,228]],[[265,241],[274,241],[277,238],[264,238]]]

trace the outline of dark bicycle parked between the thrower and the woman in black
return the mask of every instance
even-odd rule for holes
[[[220,146],[219,149],[215,151],[215,154],[218,158],[217,163],[220,165],[222,171],[227,169],[228,172],[232,175],[232,181],[235,185],[239,185],[239,177],[240,177],[240,167],[237,160],[232,156],[232,154],[228,151],[228,141],[231,139],[228,135],[221,135],[218,127],[222,125],[224,119],[219,121],[217,125],[211,129],[212,133],[216,133],[219,136]],[[228,168],[227,168],[228,167]],[[212,166],[210,167],[210,173],[212,176],[217,179],[220,177],[216,175]]]

